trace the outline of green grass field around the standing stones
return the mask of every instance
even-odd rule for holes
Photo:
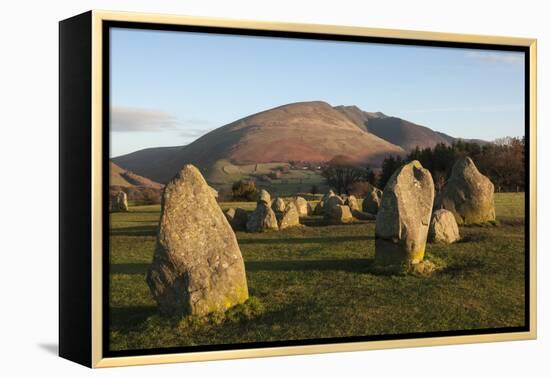
[[[462,241],[429,244],[427,258],[443,267],[430,277],[377,274],[371,221],[325,226],[310,217],[281,232],[239,232],[253,300],[205,319],[156,314],[145,274],[159,206],[112,214],[111,349],[521,326],[523,199],[497,194],[498,226],[463,227]]]

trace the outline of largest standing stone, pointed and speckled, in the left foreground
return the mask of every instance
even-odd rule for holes
[[[166,315],[205,315],[248,298],[235,233],[197,168],[185,165],[164,189],[147,283]]]

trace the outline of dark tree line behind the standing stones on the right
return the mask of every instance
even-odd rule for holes
[[[435,189],[439,191],[449,179],[456,160],[463,156],[469,156],[479,171],[489,177],[495,191],[525,190],[525,137],[506,137],[485,144],[459,140],[452,145],[440,143],[434,147],[417,147],[405,157],[386,157],[378,172],[337,156],[323,166],[322,175],[338,193],[361,195],[368,185],[383,188],[399,167],[418,160],[430,171]]]

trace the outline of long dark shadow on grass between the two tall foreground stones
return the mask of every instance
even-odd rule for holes
[[[247,271],[344,271],[373,273],[374,259],[248,261]]]

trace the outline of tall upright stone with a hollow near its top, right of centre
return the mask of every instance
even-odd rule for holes
[[[384,188],[375,228],[375,260],[384,266],[424,258],[434,200],[432,175],[417,160],[405,164]]]

